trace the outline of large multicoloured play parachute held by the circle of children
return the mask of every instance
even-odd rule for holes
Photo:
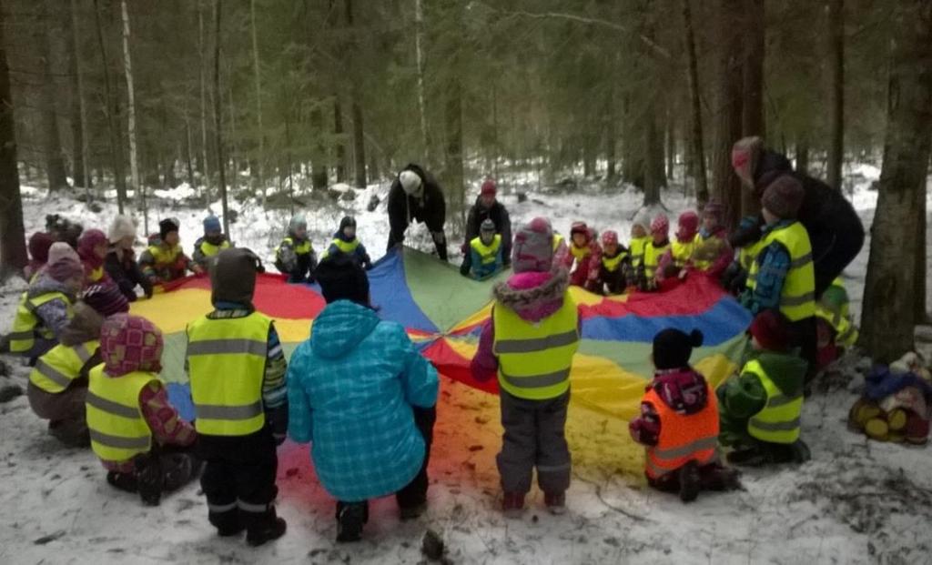
[[[460,276],[459,269],[407,248],[392,251],[369,271],[372,301],[381,317],[403,324],[443,375],[489,393],[495,392],[495,381],[473,380],[469,364],[491,312],[492,286],[504,277],[474,282]],[[657,294],[571,292],[583,318],[572,398],[606,415],[628,419],[636,413],[651,379],[651,339],[661,329],[701,330],[706,343],[693,352],[692,364],[716,384],[733,371],[744,347],[747,310],[703,276]],[[324,307],[315,287],[287,284],[268,274],[258,278],[254,304],[275,319],[288,354],[308,338],[312,320]],[[203,277],[185,279],[132,305],[133,313],[165,333],[162,378],[170,383],[172,401],[188,417],[193,409],[184,370],[185,325],[211,310],[210,282]]]

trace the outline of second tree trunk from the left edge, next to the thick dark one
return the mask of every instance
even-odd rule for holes
[[[51,5],[49,0],[44,0],[42,5],[43,18],[36,21],[38,34],[41,34],[37,41],[42,53],[42,134],[43,134],[43,152],[46,158],[46,175],[48,177],[48,189],[60,190],[68,187],[68,173],[64,167],[64,156],[62,154],[62,134],[59,131],[58,109],[56,104],[56,95],[59,92],[55,84],[54,65],[52,63],[51,37],[53,33],[49,29],[51,19]],[[43,21],[44,20],[44,21]]]

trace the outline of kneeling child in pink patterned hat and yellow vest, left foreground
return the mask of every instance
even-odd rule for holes
[[[146,505],[180,489],[200,473],[190,448],[191,424],[169,402],[159,360],[162,333],[140,316],[113,315],[101,330],[103,365],[90,370],[90,448],[107,470],[107,482],[138,492]]]

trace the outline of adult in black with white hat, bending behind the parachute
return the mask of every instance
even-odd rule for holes
[[[437,255],[446,260],[446,201],[433,176],[414,163],[404,167],[389,190],[388,251],[404,241],[404,232],[412,221],[423,222],[431,230]]]

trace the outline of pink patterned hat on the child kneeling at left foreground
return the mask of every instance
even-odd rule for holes
[[[101,328],[101,356],[111,377],[162,370],[162,332],[141,316],[114,314]]]

